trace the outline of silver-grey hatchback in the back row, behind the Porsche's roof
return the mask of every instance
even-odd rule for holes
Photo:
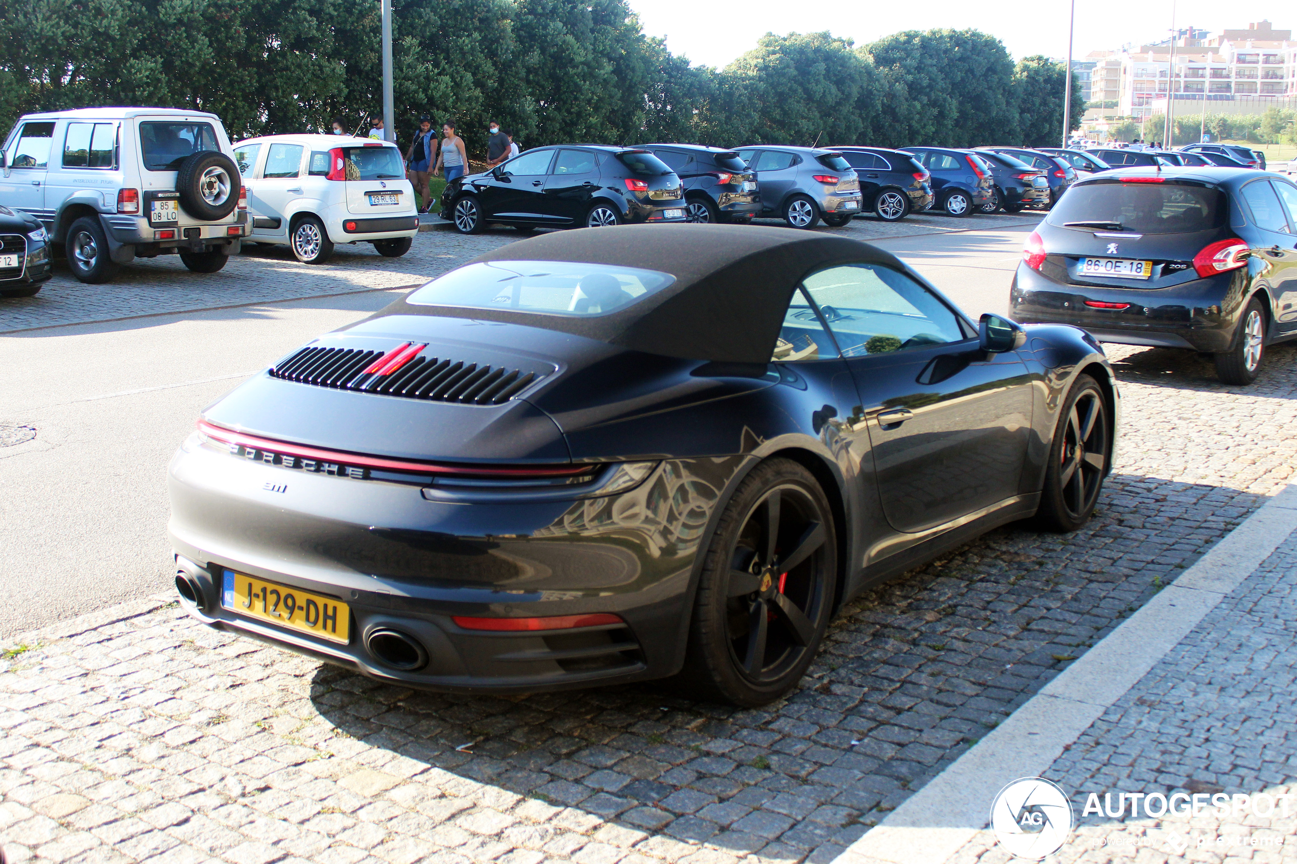
[[[840,153],[764,144],[735,149],[756,172],[757,216],[778,216],[790,228],[815,228],[821,219],[840,228],[860,212],[860,180]]]

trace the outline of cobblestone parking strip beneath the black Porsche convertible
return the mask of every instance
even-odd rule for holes
[[[415,693],[158,609],[5,646],[0,842],[13,860],[827,861],[1293,473],[1293,348],[1248,389],[1185,352],[1112,354],[1126,427],[1091,525],[1008,526],[857,598],[768,709],[665,685]]]

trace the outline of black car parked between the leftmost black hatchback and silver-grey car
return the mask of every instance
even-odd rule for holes
[[[689,222],[752,222],[761,211],[756,172],[734,150],[702,144],[641,144],[685,184]]]

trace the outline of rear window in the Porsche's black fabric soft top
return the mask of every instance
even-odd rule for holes
[[[549,260],[479,262],[432,280],[412,306],[454,306],[545,315],[607,315],[634,306],[676,281],[634,267]]]

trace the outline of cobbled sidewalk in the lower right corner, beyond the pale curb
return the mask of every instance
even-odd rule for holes
[[[1209,613],[1043,775],[1080,816],[1091,793],[1230,795],[1197,817],[1080,817],[1056,860],[1106,864],[1297,861],[1297,534]],[[1254,799],[1239,802],[1235,795]],[[1270,798],[1262,798],[1268,795]],[[1280,797],[1288,795],[1287,801]],[[1161,803],[1154,806],[1154,811]],[[1179,807],[1178,807],[1179,808]],[[1012,860],[979,834],[952,864]],[[1054,860],[1054,859],[1051,859]]]

